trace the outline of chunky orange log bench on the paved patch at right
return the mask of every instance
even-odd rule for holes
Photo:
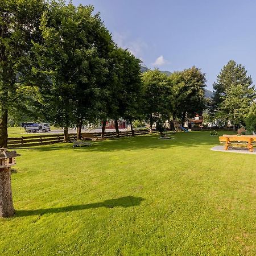
[[[219,137],[220,143],[224,144],[224,150],[231,147],[247,147],[250,152],[253,152],[253,142],[256,139],[253,136],[237,136],[223,135]]]

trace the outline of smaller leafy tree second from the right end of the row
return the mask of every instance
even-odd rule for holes
[[[146,120],[152,125],[159,119],[168,119],[172,112],[173,88],[172,81],[158,69],[144,72],[143,81],[143,112]]]

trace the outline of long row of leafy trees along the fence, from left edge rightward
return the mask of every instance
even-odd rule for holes
[[[8,115],[64,127],[146,119],[182,122],[204,108],[205,75],[192,67],[170,77],[141,74],[140,60],[112,40],[93,6],[65,1],[0,0],[0,146]],[[133,130],[133,129],[132,129]]]

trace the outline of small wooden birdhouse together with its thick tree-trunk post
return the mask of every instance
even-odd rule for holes
[[[11,166],[16,164],[16,156],[20,155],[15,151],[7,151],[7,148],[0,148],[0,217],[11,217],[15,212],[11,192]]]

